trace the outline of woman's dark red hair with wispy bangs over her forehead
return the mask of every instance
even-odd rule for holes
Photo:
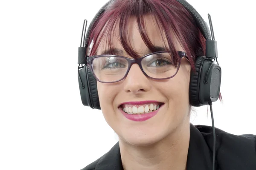
[[[174,37],[186,52],[192,65],[195,57],[204,55],[205,39],[189,12],[176,0],[115,0],[92,26],[88,44],[91,45],[90,56],[96,55],[99,45],[103,45],[111,54],[115,54],[113,40],[118,34],[118,40],[125,52],[133,57],[141,57],[129,41],[128,20],[134,17],[140,36],[147,48],[156,49],[146,31],[145,16],[151,16],[154,25],[159,28],[164,47],[173,56],[175,66],[180,60],[175,49]],[[203,44],[203,45],[202,45]],[[198,50],[200,49],[200,50]]]

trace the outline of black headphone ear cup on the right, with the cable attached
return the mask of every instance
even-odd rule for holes
[[[189,85],[190,105],[198,107],[218,100],[221,67],[204,56],[197,57],[195,72],[191,71]]]

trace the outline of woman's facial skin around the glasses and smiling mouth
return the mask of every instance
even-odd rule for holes
[[[149,39],[154,46],[164,47],[160,30],[154,25],[153,19],[145,17],[146,30]],[[140,56],[148,54],[148,48],[143,42],[136,19],[131,18],[128,22],[129,40],[132,47]],[[129,57],[118,39],[119,31],[116,30],[116,37],[113,46],[123,51],[122,56]],[[102,41],[105,42],[105,41]],[[177,51],[184,51],[177,39],[175,48]],[[98,48],[97,55],[105,51],[105,44]],[[121,54],[118,54],[121,55]],[[189,80],[190,65],[183,57],[178,73],[175,77],[167,80],[153,80],[146,77],[140,70],[139,65],[133,64],[125,79],[115,83],[97,82],[99,101],[102,113],[119,139],[129,144],[145,146],[154,144],[169,136],[179,127],[189,124]],[[120,105],[124,102],[157,101],[163,103],[157,114],[144,121],[134,121],[126,118],[122,113]],[[148,103],[149,108],[151,102]],[[153,105],[158,105],[153,103]],[[144,108],[147,107],[145,104]],[[133,108],[133,104],[125,105]],[[139,108],[139,105],[135,107]],[[126,113],[127,114],[127,113]]]

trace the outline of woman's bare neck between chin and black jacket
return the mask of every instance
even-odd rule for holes
[[[186,170],[190,124],[184,121],[160,142],[135,146],[119,139],[124,170]]]

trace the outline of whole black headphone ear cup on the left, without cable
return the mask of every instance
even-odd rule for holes
[[[79,74],[79,90],[83,105],[90,106],[93,109],[100,109],[97,82],[93,77],[93,73],[87,65],[84,65],[84,68],[79,70]]]

